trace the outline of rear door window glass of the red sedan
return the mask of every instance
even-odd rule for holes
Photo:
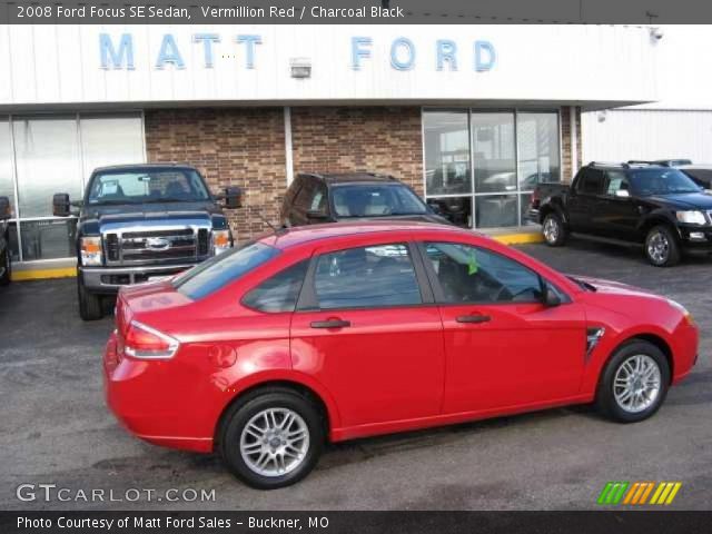
[[[423,301],[405,244],[349,248],[317,260],[320,309],[407,306]]]

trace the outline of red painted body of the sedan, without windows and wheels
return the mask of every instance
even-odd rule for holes
[[[421,304],[378,309],[263,313],[241,298],[303,259],[379,244],[447,241],[514,259],[554,284],[568,301]],[[616,347],[634,337],[665,347],[672,383],[686,376],[698,328],[663,297],[621,284],[566,276],[485,236],[426,224],[368,222],[304,227],[259,243],[280,254],[197,300],[170,281],[122,289],[117,330],[105,354],[107,402],[123,425],[160,445],[210,452],[220,417],[260,385],[288,383],[324,405],[329,438],[459,423],[594,399]],[[482,324],[457,322],[483,314]],[[314,322],[342,319],[349,328]],[[168,359],[126,354],[139,322],[179,342]],[[586,330],[605,334],[589,354]]]

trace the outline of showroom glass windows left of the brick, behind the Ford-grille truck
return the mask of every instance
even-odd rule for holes
[[[0,118],[0,195],[16,218],[13,259],[72,257],[77,220],[52,216],[52,195],[80,200],[96,167],[145,159],[138,113]]]

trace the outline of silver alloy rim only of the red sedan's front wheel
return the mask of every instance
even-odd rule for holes
[[[661,376],[660,367],[652,357],[637,354],[626,358],[613,378],[615,402],[631,414],[650,408],[660,395]]]

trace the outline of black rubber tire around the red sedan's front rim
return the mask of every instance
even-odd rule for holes
[[[660,384],[656,396],[652,403],[643,409],[633,412],[621,406],[614,392],[614,380],[621,369],[630,358],[635,356],[646,356],[656,364],[660,373]],[[655,345],[642,339],[636,339],[622,345],[615,350],[603,369],[599,380],[596,392],[596,407],[609,418],[619,423],[637,423],[652,416],[665,400],[670,386],[670,365],[665,355]],[[624,387],[624,386],[620,386]]]

